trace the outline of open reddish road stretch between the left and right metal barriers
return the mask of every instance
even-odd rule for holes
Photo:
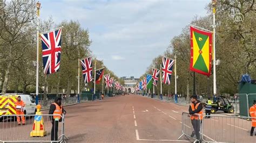
[[[68,106],[65,110],[65,134],[70,142],[187,141],[177,140],[185,106],[126,95]]]

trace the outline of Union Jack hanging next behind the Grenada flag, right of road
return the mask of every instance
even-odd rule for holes
[[[171,84],[171,75],[172,75],[172,68],[173,68],[174,60],[167,58],[167,57],[163,57],[162,61],[163,61],[163,63],[162,63],[163,83]]]

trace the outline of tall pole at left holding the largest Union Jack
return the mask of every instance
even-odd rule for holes
[[[36,49],[36,104],[38,104],[38,76],[39,76],[39,15],[40,15],[41,3],[36,3],[37,9],[37,49]]]

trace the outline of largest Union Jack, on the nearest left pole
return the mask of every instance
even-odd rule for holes
[[[44,74],[53,74],[59,70],[62,43],[62,29],[40,34],[42,39],[42,55]]]

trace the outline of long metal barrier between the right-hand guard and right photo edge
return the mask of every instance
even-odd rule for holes
[[[202,139],[206,142],[256,142],[256,127],[253,136],[250,134],[251,119],[252,117],[204,116]]]

